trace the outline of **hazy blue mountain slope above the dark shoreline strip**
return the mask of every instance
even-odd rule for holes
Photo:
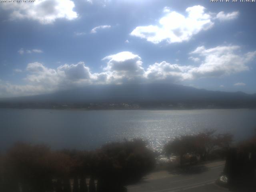
[[[255,94],[196,89],[176,84],[94,85],[52,94],[6,98],[9,102],[254,101]]]

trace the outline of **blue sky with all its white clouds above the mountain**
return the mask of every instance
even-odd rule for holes
[[[0,98],[93,84],[256,93],[256,2],[0,2]]]

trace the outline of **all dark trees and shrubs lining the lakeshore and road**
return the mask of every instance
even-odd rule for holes
[[[124,186],[159,168],[158,155],[139,139],[112,142],[97,150],[51,150],[24,142],[0,154],[2,192],[125,192]],[[255,187],[256,136],[233,143],[231,134],[206,130],[169,141],[165,168],[184,170],[208,160],[226,160],[223,175],[231,189]],[[174,163],[176,162],[176,164]],[[217,179],[217,178],[216,178]]]

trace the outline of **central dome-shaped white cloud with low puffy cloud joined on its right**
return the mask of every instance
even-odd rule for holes
[[[104,72],[96,74],[104,76],[106,83],[126,83],[126,82],[154,82],[156,80],[178,82],[192,78],[188,70],[192,66],[180,66],[168,62],[155,63],[144,68],[140,56],[132,52],[120,52],[118,54],[106,56],[102,60],[108,60]],[[95,74],[94,74],[95,76]]]

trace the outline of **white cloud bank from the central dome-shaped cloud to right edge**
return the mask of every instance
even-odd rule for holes
[[[217,46],[209,49],[201,46],[190,53],[198,54],[202,58],[199,66],[182,66],[163,61],[149,65],[148,68],[142,66],[140,56],[131,52],[120,52],[103,59],[109,60],[104,70],[108,80],[118,80],[118,82],[122,82],[123,79],[144,82],[154,80],[180,82],[196,78],[228,76],[249,70],[246,64],[256,56],[256,51],[238,54],[237,51],[240,49],[240,46]],[[200,60],[198,57],[190,59]]]

